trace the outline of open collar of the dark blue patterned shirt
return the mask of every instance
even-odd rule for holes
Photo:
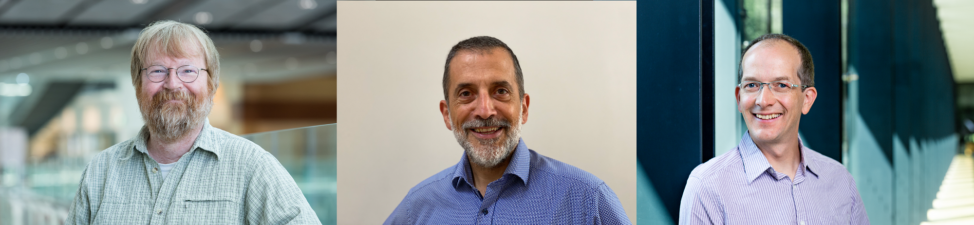
[[[460,188],[461,184],[467,184],[472,186],[469,182],[473,178],[473,174],[470,173],[470,164],[467,159],[467,152],[464,152],[463,156],[460,158],[460,163],[453,170],[453,187]],[[524,183],[525,186],[528,185],[528,173],[531,169],[531,151],[528,149],[528,145],[524,144],[524,139],[517,140],[517,147],[514,148],[514,152],[510,156],[510,164],[507,165],[507,169],[504,170],[504,175],[511,174]]]

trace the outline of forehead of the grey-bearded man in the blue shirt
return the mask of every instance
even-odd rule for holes
[[[514,79],[513,59],[502,49],[461,51],[450,62],[450,83],[453,84]]]

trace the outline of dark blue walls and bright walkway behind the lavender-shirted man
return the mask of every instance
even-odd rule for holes
[[[688,99],[648,100],[659,105],[687,100],[700,103],[673,112],[698,117],[667,122],[690,129],[640,130],[641,140],[646,138],[643,133],[660,139],[640,144],[655,147],[639,149],[640,223],[676,224],[691,170],[739,143],[747,128],[732,93],[739,83],[741,51],[760,35],[784,33],[801,41],[815,64],[818,96],[802,116],[800,136],[805,146],[849,170],[872,224],[974,224],[970,154],[974,147],[974,44],[970,38],[974,36],[974,15],[970,14],[974,1],[710,0],[658,2],[645,8],[640,5],[639,11],[647,18],[700,24],[640,23],[640,30],[652,26],[657,33],[691,35],[655,36],[656,41],[672,46],[688,46],[682,51],[689,53],[646,47],[639,56],[663,65],[653,72],[700,74],[699,83],[665,76],[640,76],[640,82],[674,89],[702,87],[699,92],[685,93]],[[696,50],[693,48],[699,51],[687,51]],[[687,62],[679,64],[683,61]],[[665,66],[670,63],[693,71]],[[645,93],[643,89],[639,92]],[[641,111],[640,117],[659,114],[654,113]],[[667,115],[661,118],[671,120]],[[641,127],[662,124],[647,121]],[[694,138],[699,132],[693,125],[704,128],[699,134],[702,138]],[[671,151],[688,148],[700,151]]]

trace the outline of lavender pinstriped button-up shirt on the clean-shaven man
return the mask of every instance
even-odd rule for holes
[[[794,182],[745,132],[740,144],[690,174],[680,224],[869,224],[852,175],[799,140]]]

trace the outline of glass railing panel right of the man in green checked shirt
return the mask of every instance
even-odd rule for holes
[[[337,223],[337,127],[331,124],[241,135],[278,158],[325,225]]]

